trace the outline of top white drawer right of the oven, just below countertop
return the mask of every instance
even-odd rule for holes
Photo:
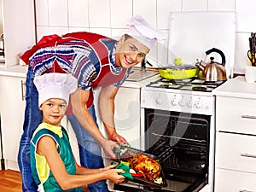
[[[217,96],[216,130],[256,135],[256,100]]]

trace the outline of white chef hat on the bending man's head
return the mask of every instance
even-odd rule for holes
[[[157,40],[166,39],[166,34],[164,32],[160,32],[159,30],[150,26],[148,22],[140,15],[134,16],[126,24],[127,26],[130,26],[127,34],[132,38],[136,38],[149,49]]]

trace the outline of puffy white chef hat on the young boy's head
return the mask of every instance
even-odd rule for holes
[[[49,98],[69,101],[69,95],[78,88],[78,80],[67,73],[45,73],[34,79],[38,89],[38,106]]]

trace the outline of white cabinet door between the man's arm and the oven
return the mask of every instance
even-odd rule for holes
[[[140,89],[121,87],[115,97],[114,122],[116,131],[132,148],[140,145]]]

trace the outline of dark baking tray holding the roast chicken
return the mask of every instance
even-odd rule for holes
[[[129,149],[133,154],[145,154],[145,155],[148,155],[149,157],[151,157],[152,159],[154,160],[159,160],[157,156],[155,156],[154,154],[147,154],[145,153],[143,150],[139,150],[137,148],[131,148],[131,147],[126,147],[126,146],[120,146],[121,149]],[[113,161],[116,161],[116,162],[119,162],[120,160],[124,160],[124,158],[120,158],[118,155],[117,155],[117,158],[116,159],[113,159]],[[166,187],[167,186],[167,183],[166,183],[166,177],[165,177],[165,174],[163,172],[163,170],[161,169],[160,170],[160,177],[162,177],[162,181],[163,183],[162,184],[159,184],[159,183],[154,183],[154,182],[151,182],[151,181],[148,181],[147,179],[145,178],[142,178],[142,177],[133,177],[134,179],[132,181],[127,181],[127,183],[138,183],[138,184],[142,184],[144,186],[147,186],[147,187],[150,187],[150,188],[154,188],[154,189],[161,189],[162,187]]]

